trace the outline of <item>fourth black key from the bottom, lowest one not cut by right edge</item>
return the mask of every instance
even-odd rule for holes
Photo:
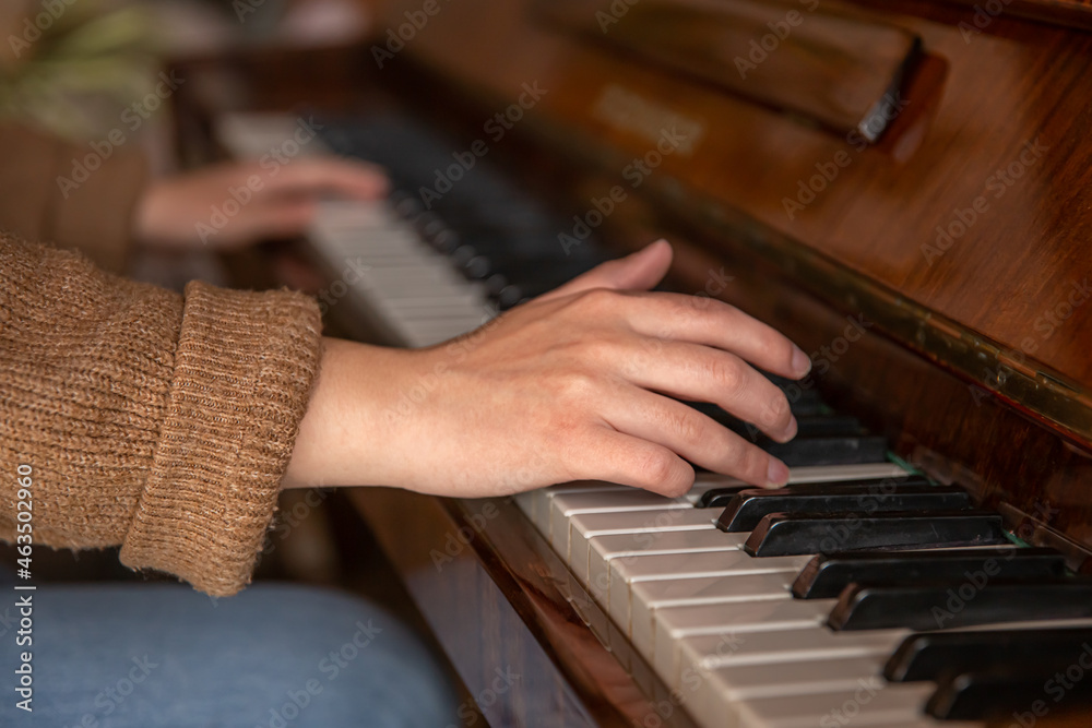
[[[1065,557],[1054,549],[1001,546],[994,549],[873,551],[821,553],[808,562],[793,584],[797,599],[833,599],[850,584],[910,586],[928,582],[960,583],[983,574],[986,578],[1060,577]]]

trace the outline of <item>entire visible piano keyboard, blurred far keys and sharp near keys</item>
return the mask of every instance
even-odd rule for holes
[[[395,188],[405,191],[384,203],[325,203],[312,235],[329,267],[342,270],[356,259],[367,266],[345,281],[349,295],[361,310],[378,313],[399,343],[428,346],[468,332],[601,259],[590,242],[558,264],[556,235],[563,224],[485,169],[468,175],[435,210],[424,210],[411,191],[444,164],[448,147],[419,130],[370,121],[335,128],[327,141],[387,165]],[[755,434],[724,413],[696,406]],[[881,439],[831,414],[810,393],[796,399],[794,411],[800,422],[794,442],[752,439],[793,466],[784,492],[831,491],[834,500],[809,501],[817,512],[768,512],[746,530],[733,528],[729,515],[745,508],[746,489],[708,473],[678,499],[604,482],[517,498],[575,581],[658,675],[662,682],[646,690],[663,684],[670,691],[653,697],[684,705],[707,728],[981,726],[990,702],[1005,706],[1002,713],[1009,711],[1006,694],[1013,705],[1030,704],[1040,696],[1041,675],[1076,663],[1088,644],[1081,641],[1092,640],[1092,592],[1065,572],[1060,554],[1010,544],[996,516],[970,503],[935,511],[870,508],[894,484],[910,482],[910,474],[885,462]],[[871,496],[860,496],[862,488]],[[840,489],[859,508],[826,508],[838,502]],[[793,511],[792,501],[778,508]],[[923,540],[922,526],[931,540]],[[833,549],[820,548],[827,536]],[[855,542],[860,550],[851,551]],[[779,554],[756,556],[770,548]],[[848,553],[839,553],[843,549]],[[939,561],[915,565],[934,552],[959,568],[969,559],[997,570],[980,577],[973,569],[949,573]],[[869,571],[869,559],[883,569]],[[847,574],[844,589],[838,578],[827,580],[840,570]],[[855,573],[866,574],[867,586],[853,583]],[[903,586],[905,594],[898,590]],[[939,611],[929,610],[915,601],[921,594],[913,588],[953,596],[935,605]],[[879,608],[870,612],[871,605]],[[603,639],[608,631],[596,633]],[[1013,644],[1024,652],[1007,647]],[[929,659],[959,664],[973,679],[953,680]],[[627,667],[641,682],[641,666]]]

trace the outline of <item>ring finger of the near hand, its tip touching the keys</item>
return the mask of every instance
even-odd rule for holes
[[[613,398],[602,416],[619,432],[663,445],[714,473],[762,488],[788,481],[784,463],[681,402],[637,390]]]

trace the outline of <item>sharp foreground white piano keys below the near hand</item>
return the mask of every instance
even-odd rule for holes
[[[895,482],[906,476],[888,463],[798,467],[792,472],[791,489]],[[724,488],[739,490],[740,484],[703,474],[691,492],[674,500],[609,484],[567,484],[524,493],[517,501],[700,725],[804,728],[846,725],[851,718],[854,726],[940,725],[923,714],[938,692],[936,684],[882,678],[890,656],[913,631],[831,630],[827,622],[838,599],[799,599],[793,594],[812,554],[752,557],[746,548],[753,532],[723,533],[714,525],[723,509],[699,508],[703,497]],[[900,515],[892,516],[893,529]],[[831,526],[840,523],[831,521]],[[887,553],[898,563],[899,557],[928,556],[925,550],[933,546],[923,542],[913,553]],[[958,550],[974,559],[1006,561],[1017,548],[963,545]],[[1044,551],[1022,550],[1030,556]],[[1038,578],[1052,583],[1063,570],[1060,554],[1054,554]],[[946,586],[958,594],[968,580],[964,575]],[[1022,586],[1034,589],[1038,583],[1032,577]],[[1056,617],[1044,612],[1043,619],[1035,619],[1033,611],[1023,610],[1002,617],[1013,621],[992,626],[1092,626],[1087,619],[1092,611],[1081,608],[1071,610],[1069,619]],[[971,624],[962,631],[987,625]],[[1080,654],[1081,634],[1072,633],[1073,658]]]

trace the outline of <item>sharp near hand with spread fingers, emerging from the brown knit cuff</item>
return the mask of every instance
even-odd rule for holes
[[[788,402],[747,362],[799,378],[810,361],[731,306],[644,293],[670,258],[654,243],[429,349],[328,341],[285,486],[483,497],[600,479],[679,496],[693,484],[684,457],[784,485],[780,461],[664,395],[716,403],[784,442]]]

